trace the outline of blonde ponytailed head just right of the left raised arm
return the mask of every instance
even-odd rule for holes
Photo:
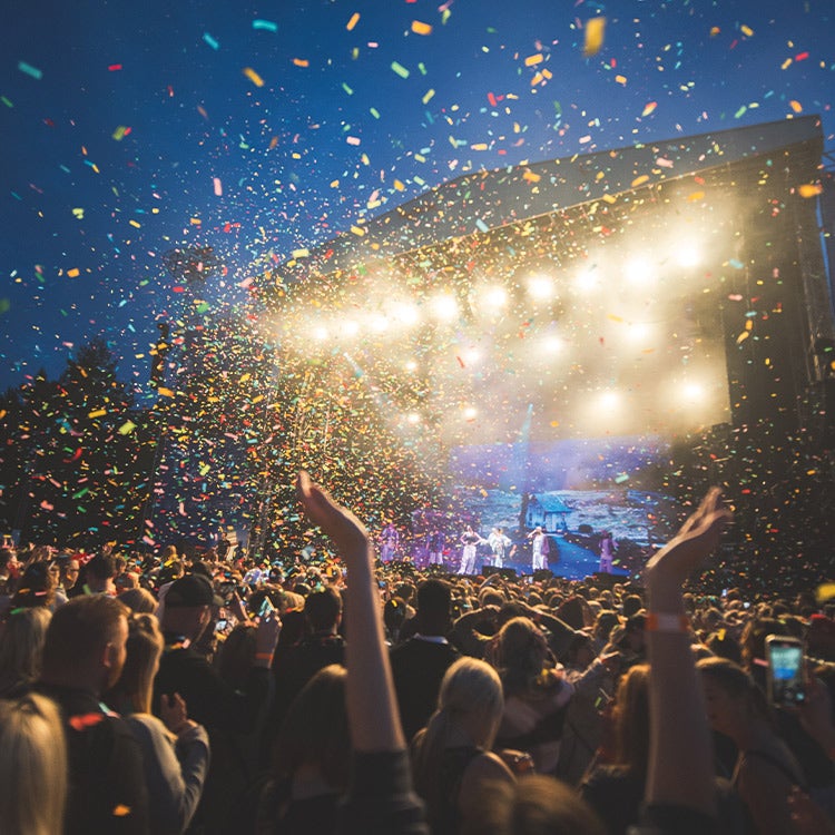
[[[413,743],[414,784],[426,802],[430,822],[441,814],[444,794],[444,752],[493,747],[504,709],[502,686],[495,670],[478,658],[456,660],[444,674],[438,709]]]

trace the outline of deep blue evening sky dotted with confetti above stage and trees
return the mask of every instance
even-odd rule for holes
[[[466,171],[798,114],[821,114],[835,150],[832,0],[6,10],[2,386],[59,373],[94,336],[144,385],[155,322],[180,303],[176,246],[223,259],[205,288],[222,312],[247,303],[256,262]]]

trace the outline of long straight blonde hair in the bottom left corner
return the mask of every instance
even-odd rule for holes
[[[30,694],[0,701],[0,821],[7,835],[63,831],[67,743],[56,705]]]

